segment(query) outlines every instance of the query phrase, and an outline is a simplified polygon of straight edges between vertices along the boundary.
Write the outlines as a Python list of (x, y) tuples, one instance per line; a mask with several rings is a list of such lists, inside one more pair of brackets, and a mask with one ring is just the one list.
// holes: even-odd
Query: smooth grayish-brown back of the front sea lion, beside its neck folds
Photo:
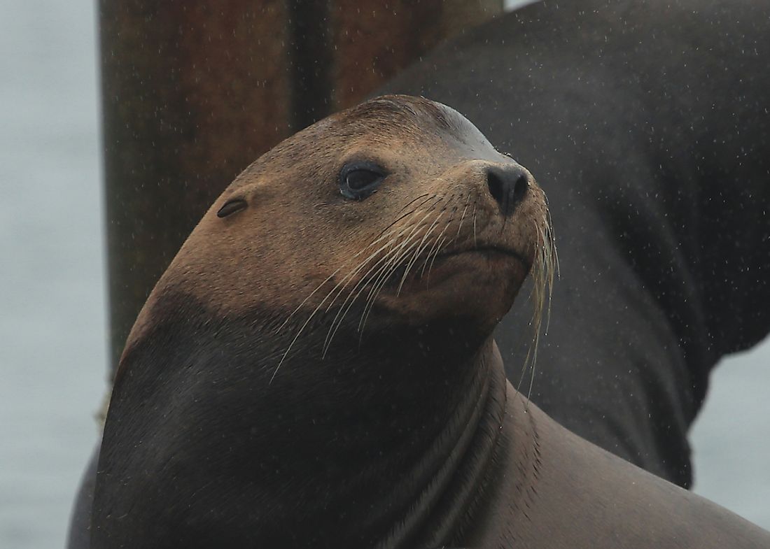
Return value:
[(467, 547), (770, 547), (770, 533), (563, 428), (507, 383), (487, 501)]

